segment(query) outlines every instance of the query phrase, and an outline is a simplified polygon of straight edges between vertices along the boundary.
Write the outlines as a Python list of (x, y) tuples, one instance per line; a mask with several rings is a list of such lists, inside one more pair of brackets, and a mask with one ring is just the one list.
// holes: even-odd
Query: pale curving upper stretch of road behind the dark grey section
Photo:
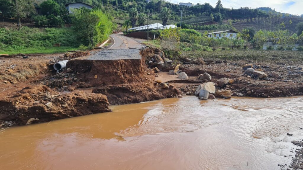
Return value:
[(143, 45), (140, 43), (140, 39), (135, 39), (135, 38), (129, 38), (123, 36), (123, 33), (118, 33), (118, 34), (112, 34), (110, 35), (113, 40), (114, 44), (109, 47), (108, 49), (141, 49), (144, 48)]

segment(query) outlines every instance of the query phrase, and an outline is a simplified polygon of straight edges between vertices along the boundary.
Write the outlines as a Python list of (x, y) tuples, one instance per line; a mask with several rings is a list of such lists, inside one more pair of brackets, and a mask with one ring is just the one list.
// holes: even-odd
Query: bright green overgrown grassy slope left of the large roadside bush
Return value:
[[(54, 44), (60, 44), (60, 47), (54, 47)], [(71, 28), (0, 28), (1, 54), (50, 54), (78, 50), (80, 45)]]

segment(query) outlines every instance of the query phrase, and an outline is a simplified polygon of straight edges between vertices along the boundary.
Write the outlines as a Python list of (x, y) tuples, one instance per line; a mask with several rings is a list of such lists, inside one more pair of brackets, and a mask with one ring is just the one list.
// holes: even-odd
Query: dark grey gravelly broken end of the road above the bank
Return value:
[(87, 60), (124, 60), (141, 58), (138, 49), (108, 49), (89, 56)]

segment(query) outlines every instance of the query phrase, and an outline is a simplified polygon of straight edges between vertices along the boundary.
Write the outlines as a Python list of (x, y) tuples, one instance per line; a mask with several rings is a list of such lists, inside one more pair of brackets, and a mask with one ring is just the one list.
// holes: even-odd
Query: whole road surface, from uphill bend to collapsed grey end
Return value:
[(125, 60), (141, 59), (139, 50), (144, 48), (140, 43), (144, 40), (124, 37), (123, 33), (112, 34), (114, 44), (106, 50), (87, 57), (88, 60)]

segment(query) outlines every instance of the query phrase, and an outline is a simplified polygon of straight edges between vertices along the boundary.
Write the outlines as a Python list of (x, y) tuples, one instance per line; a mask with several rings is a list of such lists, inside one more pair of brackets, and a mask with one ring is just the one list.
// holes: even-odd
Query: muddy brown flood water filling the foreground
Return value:
[(12, 127), (0, 169), (279, 169), (303, 138), (302, 99), (186, 96)]

